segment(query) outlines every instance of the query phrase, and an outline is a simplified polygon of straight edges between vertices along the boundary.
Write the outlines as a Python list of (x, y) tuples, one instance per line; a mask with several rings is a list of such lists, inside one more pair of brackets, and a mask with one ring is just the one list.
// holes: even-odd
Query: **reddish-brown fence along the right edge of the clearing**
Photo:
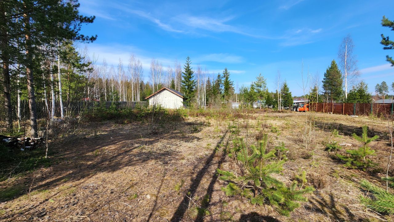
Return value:
[(310, 103), (310, 110), (333, 114), (393, 117), (394, 103)]

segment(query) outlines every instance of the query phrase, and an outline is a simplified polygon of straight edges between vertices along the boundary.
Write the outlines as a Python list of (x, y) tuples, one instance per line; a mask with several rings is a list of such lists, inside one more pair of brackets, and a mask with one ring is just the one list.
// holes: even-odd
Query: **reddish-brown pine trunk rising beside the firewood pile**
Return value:
[[(26, 5), (25, 5), (26, 8)], [(28, 93), (28, 102), (30, 109), (30, 133), (33, 137), (38, 137), (38, 127), (37, 127), (37, 106), (35, 103), (35, 94), (34, 94), (34, 78), (33, 78), (33, 69), (32, 69), (32, 61), (33, 56), (31, 49), (31, 39), (30, 39), (30, 17), (24, 13), (24, 34), (26, 40), (26, 78), (27, 78), (27, 93)]]

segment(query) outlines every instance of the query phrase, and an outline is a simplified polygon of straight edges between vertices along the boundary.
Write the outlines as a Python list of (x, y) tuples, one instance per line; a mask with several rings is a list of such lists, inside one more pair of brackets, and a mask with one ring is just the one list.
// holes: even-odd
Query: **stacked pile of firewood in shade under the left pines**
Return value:
[(33, 150), (35, 147), (45, 143), (42, 137), (31, 138), (31, 137), (11, 137), (0, 135), (0, 143), (7, 146), (18, 148), (22, 151)]

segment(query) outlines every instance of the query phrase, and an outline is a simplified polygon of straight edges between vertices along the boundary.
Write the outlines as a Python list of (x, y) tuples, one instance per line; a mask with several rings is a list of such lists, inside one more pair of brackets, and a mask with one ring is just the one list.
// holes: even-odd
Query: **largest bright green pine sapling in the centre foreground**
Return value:
[[(247, 198), (251, 204), (264, 205), (268, 203), (276, 211), (288, 216), (290, 212), (299, 207), (299, 201), (307, 201), (304, 194), (312, 192), (312, 187), (297, 188), (297, 182), (290, 187), (273, 177), (273, 173), (281, 173), (285, 160), (273, 160), (276, 149), (266, 152), (268, 136), (264, 135), (258, 146), (245, 145), (241, 140), (236, 143), (240, 146), (236, 151), (236, 158), (243, 164), (243, 175), (217, 169), (221, 176), (219, 179), (229, 184), (222, 190), (227, 196), (240, 195)], [(282, 147), (284, 148), (284, 147)], [(247, 186), (247, 187), (246, 187)]]

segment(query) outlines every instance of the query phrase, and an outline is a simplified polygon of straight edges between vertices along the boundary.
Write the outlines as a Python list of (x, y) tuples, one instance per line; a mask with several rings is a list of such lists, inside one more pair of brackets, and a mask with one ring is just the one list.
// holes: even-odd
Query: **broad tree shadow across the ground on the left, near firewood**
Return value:
[[(194, 123), (201, 125), (197, 121)], [(59, 151), (60, 155), (53, 158), (55, 163), (52, 164), (50, 170), (44, 170), (42, 173), (34, 175), (34, 183), (30, 191), (49, 190), (66, 181), (67, 183), (72, 182), (73, 187), (78, 187), (99, 172), (115, 172), (124, 167), (137, 166), (151, 160), (158, 160), (162, 164), (174, 161), (174, 157), (178, 153), (172, 147), (164, 146), (166, 144), (157, 149), (145, 149), (144, 147), (146, 144), (154, 146), (163, 138), (173, 136), (175, 131), (190, 131), (191, 126), (193, 124), (185, 124), (184, 122), (170, 124), (162, 127), (164, 130), (159, 131), (158, 134), (150, 134), (149, 130), (141, 132), (141, 129), (147, 128), (147, 125), (133, 124), (119, 129), (122, 132), (114, 132), (116, 130), (109, 129), (97, 137), (78, 137), (69, 141), (65, 138), (63, 141), (66, 142), (59, 143), (65, 151)], [(182, 134), (182, 136), (186, 137), (182, 141), (194, 141), (198, 138), (188, 134)], [(25, 187), (28, 190), (31, 183), (32, 177), (25, 177), (13, 186)], [(26, 194), (26, 189), (23, 190), (24, 192), (15, 194), (13, 198)], [(59, 192), (51, 196), (55, 196)], [(48, 198), (44, 201), (47, 200)], [(43, 202), (32, 207), (37, 207), (41, 203)], [(19, 214), (28, 212), (32, 207), (20, 211)], [(0, 220), (11, 216), (13, 215), (0, 216)]]

